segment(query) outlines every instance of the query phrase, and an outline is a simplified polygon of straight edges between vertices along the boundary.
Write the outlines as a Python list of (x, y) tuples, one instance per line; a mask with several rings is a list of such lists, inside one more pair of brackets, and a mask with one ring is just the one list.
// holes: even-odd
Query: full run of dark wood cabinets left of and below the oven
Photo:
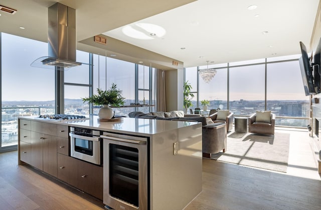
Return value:
[(68, 156), (68, 126), (19, 121), (19, 160), (103, 199), (103, 167)]

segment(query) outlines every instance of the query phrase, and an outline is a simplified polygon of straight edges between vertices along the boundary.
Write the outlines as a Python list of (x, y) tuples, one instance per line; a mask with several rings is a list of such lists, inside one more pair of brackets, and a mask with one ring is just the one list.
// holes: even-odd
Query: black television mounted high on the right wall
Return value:
[[(316, 63), (311, 63), (311, 57), (308, 56), (305, 45), (300, 42), (301, 54), (302, 56), (299, 58), (299, 64), (301, 69), (302, 81), (305, 95), (314, 95), (320, 93), (320, 73), (319, 66)], [(317, 56), (317, 53), (314, 57)], [(320, 54), (318, 54), (320, 56)], [(317, 60), (313, 59), (314, 61)], [(320, 60), (320, 59), (318, 59)], [(316, 67), (315, 67), (315, 66)]]

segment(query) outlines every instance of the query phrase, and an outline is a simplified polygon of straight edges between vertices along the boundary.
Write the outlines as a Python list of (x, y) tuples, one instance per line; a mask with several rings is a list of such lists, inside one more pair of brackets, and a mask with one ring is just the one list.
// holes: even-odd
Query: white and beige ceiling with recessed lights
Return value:
[[(184, 67), (299, 54), (299, 41), (310, 44), (319, 4), (319, 0), (2, 0), (0, 5), (18, 12), (0, 11), (0, 31), (47, 42), (48, 7), (56, 2), (76, 9), (77, 49), (97, 53), (99, 47), (81, 42), (104, 34), (180, 61)], [(248, 10), (250, 5), (257, 8)], [(124, 35), (122, 27), (135, 22), (156, 24), (166, 34), (151, 40)]]

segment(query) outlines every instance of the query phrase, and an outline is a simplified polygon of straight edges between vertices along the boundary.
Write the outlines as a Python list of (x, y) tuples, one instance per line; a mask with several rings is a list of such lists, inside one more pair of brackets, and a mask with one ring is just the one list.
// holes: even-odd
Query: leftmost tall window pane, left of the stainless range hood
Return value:
[[(2, 137), (0, 150), (17, 148), (18, 117), (54, 114), (55, 71), (31, 67), (48, 45), (1, 33)], [(37, 50), (35, 50), (37, 49)]]

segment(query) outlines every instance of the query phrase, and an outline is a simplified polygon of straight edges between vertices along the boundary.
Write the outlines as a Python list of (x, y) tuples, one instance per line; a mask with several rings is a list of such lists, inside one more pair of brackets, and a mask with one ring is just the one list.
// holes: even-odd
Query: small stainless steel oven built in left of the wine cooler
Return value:
[(70, 127), (70, 156), (102, 165), (100, 131)]

